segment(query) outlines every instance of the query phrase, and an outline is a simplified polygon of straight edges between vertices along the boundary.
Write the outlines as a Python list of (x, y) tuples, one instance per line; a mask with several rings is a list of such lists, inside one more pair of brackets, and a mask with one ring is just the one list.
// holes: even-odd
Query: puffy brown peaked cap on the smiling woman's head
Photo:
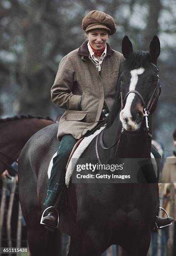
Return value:
[(110, 15), (98, 10), (93, 10), (87, 13), (82, 20), (82, 29), (84, 31), (88, 32), (95, 28), (107, 29), (110, 35), (116, 32), (116, 24), (114, 19)]

